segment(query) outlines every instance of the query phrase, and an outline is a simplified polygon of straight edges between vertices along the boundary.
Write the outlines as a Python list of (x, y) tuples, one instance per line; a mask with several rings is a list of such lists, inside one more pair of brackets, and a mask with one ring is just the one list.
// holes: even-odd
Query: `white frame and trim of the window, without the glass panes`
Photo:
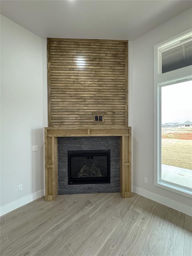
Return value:
[[(161, 58), (159, 58), (159, 52), (165, 49), (165, 44), (169, 43), (178, 45), (178, 38), (184, 37), (185, 42), (188, 40), (192, 29), (184, 31), (183, 33), (176, 35), (172, 38), (165, 40), (154, 46), (154, 185), (173, 191), (192, 198), (192, 191), (179, 185), (176, 186), (171, 182), (160, 180), (161, 175), (161, 102), (160, 102), (160, 89), (162, 86), (168, 84), (179, 83), (192, 80), (192, 66), (187, 66), (177, 70), (169, 71), (166, 73), (161, 72)], [(167, 45), (166, 45), (167, 47)], [(168, 48), (170, 48), (168, 46)]]

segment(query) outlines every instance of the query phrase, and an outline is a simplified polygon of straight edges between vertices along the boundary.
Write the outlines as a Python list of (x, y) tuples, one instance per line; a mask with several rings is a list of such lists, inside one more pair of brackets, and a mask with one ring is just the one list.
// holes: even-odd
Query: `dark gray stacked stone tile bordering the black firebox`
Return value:
[[(111, 150), (111, 183), (68, 185), (68, 150)], [(120, 137), (59, 137), (58, 194), (120, 191)]]

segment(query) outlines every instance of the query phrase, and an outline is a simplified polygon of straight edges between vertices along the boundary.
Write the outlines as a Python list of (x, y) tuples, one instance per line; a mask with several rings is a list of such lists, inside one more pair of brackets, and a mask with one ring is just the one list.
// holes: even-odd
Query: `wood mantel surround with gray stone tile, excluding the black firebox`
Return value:
[[(68, 184), (68, 151), (73, 150), (110, 150), (110, 183)], [(131, 128), (45, 128), (45, 177), (46, 201), (57, 194), (121, 192), (131, 197)]]

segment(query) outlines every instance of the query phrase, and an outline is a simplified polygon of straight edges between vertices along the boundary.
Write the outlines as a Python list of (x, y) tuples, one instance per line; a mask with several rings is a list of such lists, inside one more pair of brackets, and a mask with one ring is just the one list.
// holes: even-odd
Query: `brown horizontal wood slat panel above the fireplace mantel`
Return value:
[(127, 125), (127, 41), (48, 38), (47, 49), (49, 127)]

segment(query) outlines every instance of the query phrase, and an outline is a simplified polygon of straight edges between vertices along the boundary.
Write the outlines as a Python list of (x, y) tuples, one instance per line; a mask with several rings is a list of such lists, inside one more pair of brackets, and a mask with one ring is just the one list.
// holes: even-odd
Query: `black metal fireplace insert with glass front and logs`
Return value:
[(68, 151), (68, 185), (110, 183), (110, 150)]

